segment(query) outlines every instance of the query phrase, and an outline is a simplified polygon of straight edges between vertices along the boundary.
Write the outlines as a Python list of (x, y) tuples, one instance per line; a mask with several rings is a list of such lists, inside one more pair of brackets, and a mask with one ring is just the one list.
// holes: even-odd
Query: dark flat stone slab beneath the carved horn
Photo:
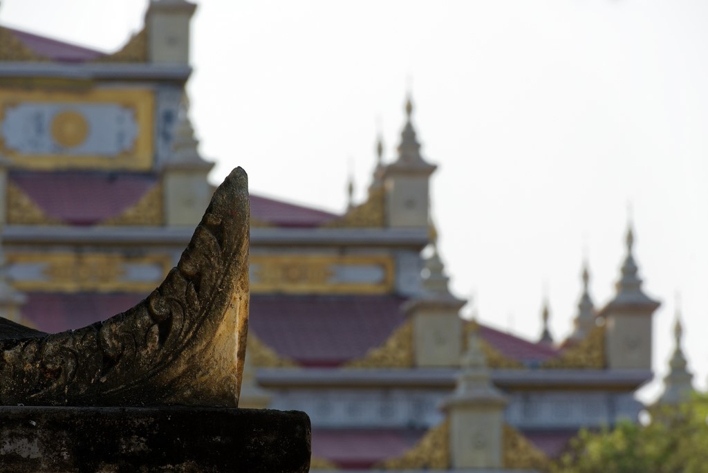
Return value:
[(299, 411), (0, 406), (2, 472), (307, 472)]

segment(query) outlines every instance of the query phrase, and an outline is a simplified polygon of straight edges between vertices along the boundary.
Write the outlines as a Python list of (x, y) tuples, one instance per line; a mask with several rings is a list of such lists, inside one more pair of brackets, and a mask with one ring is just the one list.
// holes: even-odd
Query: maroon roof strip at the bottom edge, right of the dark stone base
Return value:
[(344, 469), (367, 469), (376, 462), (398, 457), (425, 434), (418, 430), (347, 429), (312, 431), (312, 455)]

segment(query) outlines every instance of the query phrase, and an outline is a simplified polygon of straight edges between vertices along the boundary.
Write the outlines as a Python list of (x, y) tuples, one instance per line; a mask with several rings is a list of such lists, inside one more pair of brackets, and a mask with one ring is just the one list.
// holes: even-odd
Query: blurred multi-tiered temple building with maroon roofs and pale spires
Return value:
[[(78, 328), (131, 307), (178, 261), (212, 193), (185, 95), (194, 10), (151, 1), (110, 55), (0, 28), (4, 317)], [(636, 420), (659, 304), (632, 230), (612, 300), (593, 304), (583, 268), (569, 339), (462, 319), (429, 214), (436, 166), (410, 100), (406, 113), (397, 155), (379, 142), (367, 199), (341, 215), (251, 195), (241, 405), (306, 411), (313, 470), (532, 471), (582, 427)], [(690, 389), (677, 353), (666, 401)]]

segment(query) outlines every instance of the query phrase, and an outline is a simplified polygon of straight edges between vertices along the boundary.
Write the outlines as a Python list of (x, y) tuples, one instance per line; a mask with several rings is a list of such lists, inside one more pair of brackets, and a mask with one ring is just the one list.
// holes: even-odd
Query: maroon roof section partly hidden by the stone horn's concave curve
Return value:
[(35, 329), (54, 334), (108, 319), (130, 309), (144, 297), (142, 294), (130, 293), (28, 292), (22, 315)]

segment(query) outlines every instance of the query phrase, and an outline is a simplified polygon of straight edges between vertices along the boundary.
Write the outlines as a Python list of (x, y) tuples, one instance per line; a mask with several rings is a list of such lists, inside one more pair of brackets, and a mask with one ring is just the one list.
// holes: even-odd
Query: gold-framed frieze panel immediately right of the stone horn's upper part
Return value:
[[(341, 268), (378, 268), (379, 280), (337, 278)], [(251, 292), (288, 294), (385, 294), (393, 289), (390, 256), (252, 254)]]

